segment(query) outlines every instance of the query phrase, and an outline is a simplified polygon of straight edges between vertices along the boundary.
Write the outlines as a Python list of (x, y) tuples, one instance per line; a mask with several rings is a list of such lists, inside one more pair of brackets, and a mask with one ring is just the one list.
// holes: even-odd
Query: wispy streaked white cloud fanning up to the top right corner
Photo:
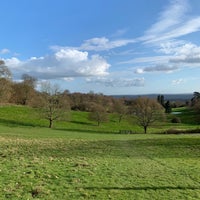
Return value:
[(160, 14), (158, 21), (140, 38), (145, 43), (155, 43), (175, 39), (200, 31), (200, 17), (188, 17), (187, 0), (172, 0)]

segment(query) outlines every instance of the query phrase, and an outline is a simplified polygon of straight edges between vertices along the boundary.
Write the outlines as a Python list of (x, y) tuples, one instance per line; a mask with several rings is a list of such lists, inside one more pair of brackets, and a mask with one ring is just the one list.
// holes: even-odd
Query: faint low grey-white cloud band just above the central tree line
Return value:
[(144, 78), (88, 78), (88, 83), (101, 84), (106, 87), (142, 87)]

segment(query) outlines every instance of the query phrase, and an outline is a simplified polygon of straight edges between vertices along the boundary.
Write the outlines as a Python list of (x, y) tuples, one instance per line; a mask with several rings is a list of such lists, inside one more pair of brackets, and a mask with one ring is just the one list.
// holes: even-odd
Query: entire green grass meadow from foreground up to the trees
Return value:
[(32, 108), (1, 107), (0, 199), (200, 199), (200, 135), (163, 134), (198, 128), (191, 113), (149, 134), (116, 116), (98, 127), (87, 114), (49, 129)]

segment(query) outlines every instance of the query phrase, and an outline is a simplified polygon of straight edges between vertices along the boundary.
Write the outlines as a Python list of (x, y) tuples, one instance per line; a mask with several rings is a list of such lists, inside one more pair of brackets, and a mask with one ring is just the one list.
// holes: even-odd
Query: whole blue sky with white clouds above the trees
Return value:
[(70, 92), (200, 91), (199, 0), (0, 0), (0, 59)]

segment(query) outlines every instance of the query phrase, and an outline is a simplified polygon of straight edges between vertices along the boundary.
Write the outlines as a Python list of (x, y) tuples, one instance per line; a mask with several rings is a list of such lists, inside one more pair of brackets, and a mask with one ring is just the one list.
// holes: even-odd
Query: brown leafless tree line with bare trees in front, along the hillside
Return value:
[[(36, 89), (37, 79), (23, 74), (21, 82), (14, 82), (12, 74), (0, 61), (0, 103), (31, 106), (38, 109), (41, 117), (49, 121), (49, 128), (56, 120), (66, 119), (70, 110), (89, 112), (89, 118), (100, 125), (108, 120), (108, 113), (116, 113), (118, 122), (125, 115), (134, 116), (144, 132), (164, 113), (170, 113), (172, 104), (159, 95), (157, 99), (138, 97), (136, 99), (114, 98), (103, 94), (70, 93), (61, 91), (59, 85), (43, 82), (41, 90)], [(198, 96), (198, 95), (197, 95)], [(200, 95), (199, 95), (200, 97)], [(200, 101), (193, 100), (197, 105)], [(199, 98), (200, 99), (200, 98)]]

